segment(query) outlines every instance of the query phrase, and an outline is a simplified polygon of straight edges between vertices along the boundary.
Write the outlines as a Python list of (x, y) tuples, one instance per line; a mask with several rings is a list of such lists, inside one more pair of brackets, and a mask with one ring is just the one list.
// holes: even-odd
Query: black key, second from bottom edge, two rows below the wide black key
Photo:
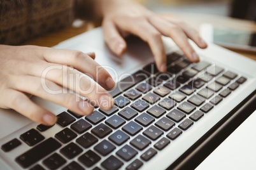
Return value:
[(99, 160), (101, 160), (101, 157), (95, 154), (92, 150), (88, 150), (87, 152), (85, 152), (85, 154), (78, 157), (78, 160), (82, 162), (82, 164), (84, 164), (85, 166), (91, 167), (99, 162)]

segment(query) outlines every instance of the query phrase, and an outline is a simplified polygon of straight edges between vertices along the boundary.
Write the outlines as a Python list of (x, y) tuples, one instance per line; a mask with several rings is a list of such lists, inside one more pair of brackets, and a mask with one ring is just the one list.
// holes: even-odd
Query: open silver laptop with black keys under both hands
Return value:
[(32, 96), (58, 116), (50, 127), (1, 109), (1, 169), (195, 168), (255, 110), (256, 62), (191, 42), (201, 62), (190, 63), (171, 39), (163, 41), (166, 74), (136, 37), (115, 56), (100, 27), (54, 46), (95, 51), (96, 62), (117, 82), (110, 91), (115, 107), (80, 116)]

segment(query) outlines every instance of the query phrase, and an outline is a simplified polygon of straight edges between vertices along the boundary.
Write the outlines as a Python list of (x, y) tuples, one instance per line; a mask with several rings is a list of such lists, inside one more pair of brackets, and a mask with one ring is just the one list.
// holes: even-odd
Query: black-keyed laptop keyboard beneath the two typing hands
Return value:
[[(118, 82), (110, 92), (115, 98), (111, 110), (95, 107), (88, 116), (67, 110), (54, 126), (39, 124), (1, 149), (28, 145), (15, 158), (22, 168), (139, 169), (246, 81), (210, 62), (190, 63), (178, 53), (167, 56), (167, 65), (167, 73), (150, 63)], [(55, 126), (61, 130), (45, 138), (43, 133)]]

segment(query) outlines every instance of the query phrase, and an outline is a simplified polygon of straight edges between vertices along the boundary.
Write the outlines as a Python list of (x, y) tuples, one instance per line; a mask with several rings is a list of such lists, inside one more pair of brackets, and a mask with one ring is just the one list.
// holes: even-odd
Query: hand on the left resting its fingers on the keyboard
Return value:
[(112, 89), (115, 82), (94, 58), (94, 53), (69, 49), (0, 45), (0, 108), (12, 108), (41, 124), (54, 124), (56, 116), (29, 99), (35, 95), (78, 114), (90, 114), (94, 107), (71, 90), (109, 110), (113, 98), (105, 89)]

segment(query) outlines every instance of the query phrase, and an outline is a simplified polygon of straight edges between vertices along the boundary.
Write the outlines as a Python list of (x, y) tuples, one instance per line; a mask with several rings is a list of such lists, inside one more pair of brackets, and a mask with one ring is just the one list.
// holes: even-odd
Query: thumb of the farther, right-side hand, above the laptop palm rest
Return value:
[[(113, 22), (110, 20), (104, 20), (103, 21), (103, 34), (104, 39), (110, 49), (118, 56), (122, 55), (127, 48), (127, 45), (123, 39), (123, 37), (120, 35), (120, 32), (118, 32), (117, 27)], [(123, 32), (125, 34), (125, 32)]]

